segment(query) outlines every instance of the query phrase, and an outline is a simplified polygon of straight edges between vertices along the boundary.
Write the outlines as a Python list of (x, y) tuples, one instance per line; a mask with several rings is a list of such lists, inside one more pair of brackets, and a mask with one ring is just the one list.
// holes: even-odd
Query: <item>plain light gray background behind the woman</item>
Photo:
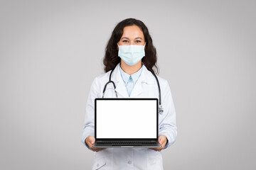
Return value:
[(90, 169), (80, 142), (114, 26), (149, 28), (178, 137), (165, 169), (255, 169), (255, 1), (0, 1), (0, 169)]

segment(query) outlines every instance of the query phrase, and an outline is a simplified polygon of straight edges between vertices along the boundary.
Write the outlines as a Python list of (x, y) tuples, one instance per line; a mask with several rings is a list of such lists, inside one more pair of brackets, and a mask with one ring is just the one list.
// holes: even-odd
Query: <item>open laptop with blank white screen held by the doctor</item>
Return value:
[(161, 147), (158, 98), (95, 98), (93, 147)]

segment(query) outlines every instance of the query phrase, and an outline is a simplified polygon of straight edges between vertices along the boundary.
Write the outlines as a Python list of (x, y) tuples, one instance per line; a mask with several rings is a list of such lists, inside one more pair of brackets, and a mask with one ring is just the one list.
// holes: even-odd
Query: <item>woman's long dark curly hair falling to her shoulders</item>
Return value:
[[(118, 57), (117, 42), (122, 38), (124, 27), (134, 25), (142, 29), (146, 42), (145, 57), (142, 58), (143, 64), (147, 69), (149, 69), (149, 71), (154, 72), (155, 74), (159, 73), (159, 69), (156, 66), (156, 48), (153, 45), (151, 36), (149, 35), (149, 30), (142, 21), (134, 18), (127, 18), (124, 21), (119, 22), (114, 28), (110, 40), (107, 42), (105, 57), (103, 59), (105, 72), (114, 69), (114, 67), (121, 62), (120, 57)], [(156, 71), (154, 71), (153, 68), (156, 69)]]

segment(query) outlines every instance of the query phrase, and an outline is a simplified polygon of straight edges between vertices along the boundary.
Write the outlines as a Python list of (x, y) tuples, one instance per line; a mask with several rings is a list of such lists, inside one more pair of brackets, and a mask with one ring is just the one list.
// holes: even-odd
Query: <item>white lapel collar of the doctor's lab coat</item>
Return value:
[[(120, 64), (120, 63), (119, 63)], [(114, 71), (112, 73), (112, 81), (114, 81), (114, 84), (116, 84), (116, 91), (117, 93), (121, 94), (124, 98), (129, 98), (129, 95), (127, 93), (127, 89), (124, 85), (124, 81), (122, 80), (120, 70), (119, 70), (119, 64), (114, 68)], [(142, 64), (142, 74), (137, 80), (137, 83), (134, 86), (134, 89), (132, 89), (132, 94), (130, 97), (137, 96), (142, 93), (142, 83), (146, 84), (155, 84), (156, 80), (154, 79), (154, 76), (149, 72), (148, 69)]]

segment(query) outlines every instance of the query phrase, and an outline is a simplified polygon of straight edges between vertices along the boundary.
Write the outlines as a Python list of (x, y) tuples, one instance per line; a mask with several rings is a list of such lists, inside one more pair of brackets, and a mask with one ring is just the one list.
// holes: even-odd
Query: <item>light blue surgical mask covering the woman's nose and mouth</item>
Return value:
[(137, 64), (145, 56), (145, 45), (118, 45), (118, 56), (130, 66)]

